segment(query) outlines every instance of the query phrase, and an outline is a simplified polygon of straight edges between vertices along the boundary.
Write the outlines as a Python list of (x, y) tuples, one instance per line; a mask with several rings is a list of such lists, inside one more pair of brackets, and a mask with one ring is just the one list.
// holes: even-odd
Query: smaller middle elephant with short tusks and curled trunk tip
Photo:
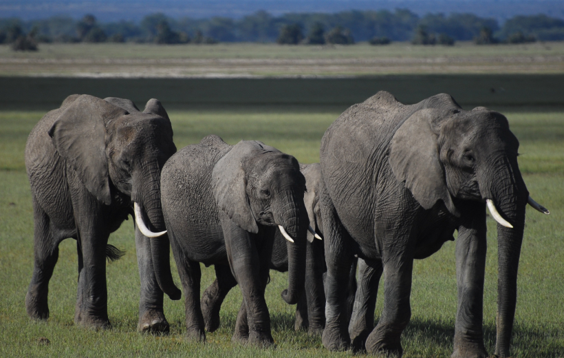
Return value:
[(305, 179), (296, 159), (260, 142), (231, 146), (207, 136), (166, 162), (161, 188), (166, 229), (186, 295), (188, 337), (206, 337), (199, 302), (203, 262), (215, 265), (218, 277), (232, 274), (241, 288), (234, 341), (273, 344), (264, 290), (278, 225), (294, 239), (288, 246), (290, 273), (283, 299), (296, 303), (305, 280), (309, 220), (303, 204)]

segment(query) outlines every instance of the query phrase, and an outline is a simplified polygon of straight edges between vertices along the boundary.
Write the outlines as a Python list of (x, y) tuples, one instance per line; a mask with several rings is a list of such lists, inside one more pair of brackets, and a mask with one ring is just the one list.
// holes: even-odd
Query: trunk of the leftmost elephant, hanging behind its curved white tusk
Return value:
[[(140, 202), (142, 213), (149, 219), (145, 221), (149, 230), (153, 232), (165, 231), (160, 201), (160, 172), (156, 171), (156, 173), (151, 174), (151, 176), (147, 176), (147, 178), (151, 178), (149, 180), (133, 181), (132, 199), (135, 202)], [(135, 184), (138, 184), (138, 186)], [(164, 234), (155, 238), (149, 238), (149, 240), (153, 269), (161, 290), (171, 299), (180, 299), (181, 291), (175, 286), (171, 273), (169, 236)]]

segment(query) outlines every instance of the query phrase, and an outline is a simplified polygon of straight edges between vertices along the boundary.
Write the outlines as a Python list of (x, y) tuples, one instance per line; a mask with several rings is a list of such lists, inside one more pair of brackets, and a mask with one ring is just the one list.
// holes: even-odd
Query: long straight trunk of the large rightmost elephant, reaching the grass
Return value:
[[(497, 279), (497, 340), (495, 355), (509, 357), (515, 307), (517, 304), (517, 271), (523, 230), (525, 206), (529, 193), (521, 177), (517, 158), (503, 158), (505, 165), (497, 167), (492, 180), (490, 198), (505, 220), (512, 225), (497, 224), (498, 279)], [(501, 169), (500, 169), (501, 168)]]

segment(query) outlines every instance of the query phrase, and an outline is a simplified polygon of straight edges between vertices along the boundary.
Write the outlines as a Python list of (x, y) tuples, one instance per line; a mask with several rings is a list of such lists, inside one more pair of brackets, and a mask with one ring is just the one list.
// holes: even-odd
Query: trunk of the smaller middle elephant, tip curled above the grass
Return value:
[[(288, 191), (274, 211), (274, 220), (281, 225), (294, 242), (286, 241), (288, 249), (288, 288), (281, 295), (288, 304), (296, 304), (305, 284), (306, 236), (310, 220), (303, 204), (303, 196)], [(279, 215), (276, 215), (279, 213)]]

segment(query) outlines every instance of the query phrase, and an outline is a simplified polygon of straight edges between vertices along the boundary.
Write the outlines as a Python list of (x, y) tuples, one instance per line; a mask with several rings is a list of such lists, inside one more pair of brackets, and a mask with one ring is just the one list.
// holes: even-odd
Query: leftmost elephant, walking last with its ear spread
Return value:
[[(107, 253), (120, 257), (107, 245), (109, 234), (133, 214), (133, 201), (149, 229), (164, 230), (160, 169), (175, 151), (169, 116), (155, 99), (140, 112), (122, 98), (76, 94), (41, 118), (25, 147), (34, 208), (34, 272), (25, 296), (30, 317), (49, 317), (48, 284), (58, 244), (74, 238), (74, 322), (91, 328), (109, 325), (105, 259)], [(166, 235), (149, 240), (135, 228), (135, 244), (142, 287), (139, 329), (169, 330), (163, 291), (180, 299), (171, 275), (169, 240)]]

